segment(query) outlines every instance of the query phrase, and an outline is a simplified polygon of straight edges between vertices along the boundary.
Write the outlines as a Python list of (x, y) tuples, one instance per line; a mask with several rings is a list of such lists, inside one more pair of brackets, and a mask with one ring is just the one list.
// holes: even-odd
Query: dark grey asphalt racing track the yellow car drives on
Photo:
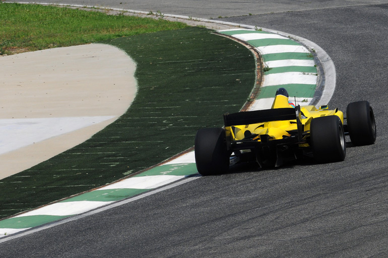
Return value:
[[(192, 3), (187, 1), (181, 10), (167, 8), (164, 12), (184, 15)], [(239, 172), (203, 177), (3, 242), (0, 254), (5, 257), (387, 257), (388, 4), (348, 1), (343, 2), (346, 7), (336, 7), (336, 1), (322, 1), (315, 9), (306, 10), (303, 2), (298, 2), (301, 11), (293, 11), (292, 3), (282, 1), (265, 7), (271, 7), (273, 13), (231, 17), (225, 12), (220, 16), (230, 17), (224, 21), (298, 35), (322, 47), (333, 59), (337, 72), (337, 87), (329, 105), (345, 110), (349, 102), (368, 100), (377, 122), (374, 145), (353, 147), (348, 143), (346, 160), (338, 163), (293, 163), (268, 170), (242, 166)], [(311, 6), (305, 3), (304, 6)], [(293, 12), (283, 12), (287, 11), (282, 10), (287, 4), (291, 4), (289, 9)], [(110, 6), (114, 5), (117, 4), (112, 1)], [(138, 5), (121, 8), (141, 10), (141, 4)], [(281, 12), (277, 11), (277, 5)], [(254, 9), (260, 9), (257, 6), (260, 5), (216, 1), (210, 9), (228, 7), (230, 12), (255, 14)], [(214, 12), (213, 17), (216, 15)]]

